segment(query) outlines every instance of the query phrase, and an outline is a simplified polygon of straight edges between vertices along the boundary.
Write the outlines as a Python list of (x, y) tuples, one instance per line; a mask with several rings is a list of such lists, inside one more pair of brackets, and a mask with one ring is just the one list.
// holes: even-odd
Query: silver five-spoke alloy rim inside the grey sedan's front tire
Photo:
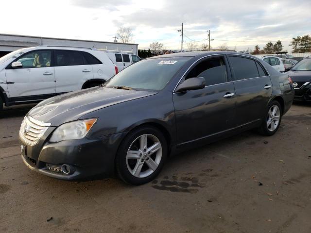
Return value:
[(153, 134), (142, 134), (127, 150), (127, 169), (133, 176), (144, 178), (154, 173), (161, 158), (162, 145), (159, 139)]

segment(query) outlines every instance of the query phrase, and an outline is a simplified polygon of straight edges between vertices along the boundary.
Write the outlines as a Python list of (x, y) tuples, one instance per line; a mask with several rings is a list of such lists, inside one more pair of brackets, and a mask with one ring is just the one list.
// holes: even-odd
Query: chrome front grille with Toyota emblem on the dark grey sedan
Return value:
[(26, 115), (20, 126), (19, 138), (26, 144), (34, 146), (50, 125)]

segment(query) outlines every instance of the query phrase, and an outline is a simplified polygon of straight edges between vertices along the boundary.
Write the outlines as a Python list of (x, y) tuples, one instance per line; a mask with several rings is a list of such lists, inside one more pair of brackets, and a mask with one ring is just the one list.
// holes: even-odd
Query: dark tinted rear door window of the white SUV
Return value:
[(55, 66), (81, 66), (85, 65), (84, 57), (79, 51), (55, 50)]

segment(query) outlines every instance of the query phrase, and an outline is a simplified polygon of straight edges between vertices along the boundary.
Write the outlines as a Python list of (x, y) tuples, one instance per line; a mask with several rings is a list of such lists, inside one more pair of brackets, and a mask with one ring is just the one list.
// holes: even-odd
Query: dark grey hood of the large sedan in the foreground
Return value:
[(32, 108), (28, 114), (39, 121), (51, 123), (51, 126), (59, 126), (98, 109), (156, 93), (99, 86), (44, 100)]

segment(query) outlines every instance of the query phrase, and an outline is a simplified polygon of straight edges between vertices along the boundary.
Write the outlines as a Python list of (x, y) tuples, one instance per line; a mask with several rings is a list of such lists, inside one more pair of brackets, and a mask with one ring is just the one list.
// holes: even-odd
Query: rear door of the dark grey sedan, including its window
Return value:
[(228, 56), (236, 93), (236, 126), (256, 122), (266, 111), (273, 86), (262, 65), (250, 58)]

